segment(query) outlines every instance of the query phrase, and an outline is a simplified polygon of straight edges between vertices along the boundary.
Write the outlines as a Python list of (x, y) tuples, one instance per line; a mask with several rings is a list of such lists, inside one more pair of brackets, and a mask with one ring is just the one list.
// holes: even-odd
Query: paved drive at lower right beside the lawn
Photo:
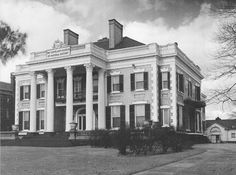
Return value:
[(236, 144), (197, 145), (206, 152), (135, 175), (236, 175)]

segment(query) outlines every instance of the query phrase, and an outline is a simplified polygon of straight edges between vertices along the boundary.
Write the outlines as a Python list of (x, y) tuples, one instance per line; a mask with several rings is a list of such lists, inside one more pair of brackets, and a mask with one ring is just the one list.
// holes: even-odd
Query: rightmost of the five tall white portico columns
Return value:
[(98, 71), (98, 129), (105, 129), (105, 77), (104, 69)]

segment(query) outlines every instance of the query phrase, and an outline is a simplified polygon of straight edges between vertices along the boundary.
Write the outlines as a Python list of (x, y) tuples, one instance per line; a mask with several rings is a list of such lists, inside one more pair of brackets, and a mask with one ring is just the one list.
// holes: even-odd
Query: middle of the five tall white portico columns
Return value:
[(73, 121), (73, 68), (66, 69), (66, 131), (70, 131), (70, 123)]

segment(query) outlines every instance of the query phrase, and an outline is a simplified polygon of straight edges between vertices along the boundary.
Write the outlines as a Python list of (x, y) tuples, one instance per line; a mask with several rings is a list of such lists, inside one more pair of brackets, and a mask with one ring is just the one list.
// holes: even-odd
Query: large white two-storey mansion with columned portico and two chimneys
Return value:
[(204, 107), (194, 105), (202, 100), (200, 68), (177, 43), (123, 37), (115, 19), (109, 38), (97, 42), (79, 44), (78, 34), (64, 30), (64, 43), (32, 53), (14, 75), (22, 132), (68, 132), (71, 122), (77, 130), (134, 128), (145, 121), (202, 132)]

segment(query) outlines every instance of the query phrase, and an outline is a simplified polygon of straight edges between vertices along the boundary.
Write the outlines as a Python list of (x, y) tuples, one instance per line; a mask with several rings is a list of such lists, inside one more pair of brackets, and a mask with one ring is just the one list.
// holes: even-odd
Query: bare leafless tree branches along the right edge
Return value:
[(209, 94), (208, 102), (236, 102), (236, 2), (232, 0), (219, 1), (212, 7), (212, 14), (221, 21), (216, 41), (219, 49), (215, 54), (213, 79), (222, 84), (230, 82), (224, 88), (214, 88)]

